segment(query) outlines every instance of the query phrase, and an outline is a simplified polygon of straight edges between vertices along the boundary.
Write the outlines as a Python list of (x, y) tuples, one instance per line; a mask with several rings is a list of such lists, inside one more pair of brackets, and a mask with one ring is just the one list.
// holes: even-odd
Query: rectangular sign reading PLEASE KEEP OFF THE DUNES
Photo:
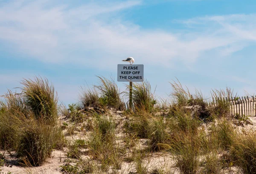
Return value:
[(143, 82), (144, 65), (118, 64), (117, 81)]

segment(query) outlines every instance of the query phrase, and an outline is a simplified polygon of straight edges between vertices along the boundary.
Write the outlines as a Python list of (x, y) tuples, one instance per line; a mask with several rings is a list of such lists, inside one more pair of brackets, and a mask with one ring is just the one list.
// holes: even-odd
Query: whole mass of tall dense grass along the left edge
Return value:
[(0, 148), (15, 150), (26, 164), (37, 166), (65, 143), (57, 122), (57, 98), (47, 79), (21, 84), (21, 94), (9, 90), (0, 103)]

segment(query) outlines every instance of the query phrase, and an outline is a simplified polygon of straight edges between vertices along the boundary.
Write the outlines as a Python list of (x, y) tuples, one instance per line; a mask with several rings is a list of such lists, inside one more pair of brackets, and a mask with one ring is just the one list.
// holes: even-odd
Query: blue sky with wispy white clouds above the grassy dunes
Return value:
[[(256, 93), (255, 0), (0, 0), (0, 95), (46, 77), (60, 102), (116, 79), (133, 57), (157, 99), (189, 90)], [(124, 82), (116, 82), (120, 91)]]

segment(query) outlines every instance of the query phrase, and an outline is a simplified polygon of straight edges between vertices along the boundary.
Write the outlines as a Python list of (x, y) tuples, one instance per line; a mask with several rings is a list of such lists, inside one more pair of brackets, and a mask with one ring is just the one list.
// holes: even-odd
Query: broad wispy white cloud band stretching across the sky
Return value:
[(195, 30), (175, 33), (145, 30), (119, 17), (122, 10), (142, 1), (91, 1), (79, 7), (61, 4), (51, 8), (47, 7), (49, 0), (19, 2), (0, 7), (0, 39), (49, 63), (106, 67), (111, 61), (134, 56), (141, 62), (171, 67), (174, 61), (195, 62), (214, 49), (227, 56), (256, 40), (255, 14), (184, 20)]

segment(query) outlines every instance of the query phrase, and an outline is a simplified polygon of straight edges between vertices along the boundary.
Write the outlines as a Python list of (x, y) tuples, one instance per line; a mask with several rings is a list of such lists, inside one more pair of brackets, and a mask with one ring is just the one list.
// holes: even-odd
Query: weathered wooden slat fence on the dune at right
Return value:
[(256, 96), (245, 97), (221, 97), (213, 99), (208, 102), (209, 106), (216, 106), (217, 104), (227, 103), (230, 107), (232, 115), (239, 114), (240, 116), (256, 116)]

